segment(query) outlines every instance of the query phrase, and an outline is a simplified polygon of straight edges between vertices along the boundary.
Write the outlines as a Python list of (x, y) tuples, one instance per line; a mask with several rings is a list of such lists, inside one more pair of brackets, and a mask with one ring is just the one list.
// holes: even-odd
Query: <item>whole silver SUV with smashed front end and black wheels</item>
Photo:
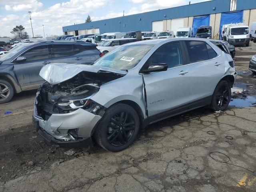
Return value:
[(236, 79), (234, 61), (207, 39), (141, 41), (92, 65), (48, 64), (38, 89), (34, 127), (61, 147), (127, 148), (140, 128), (210, 105), (225, 110)]

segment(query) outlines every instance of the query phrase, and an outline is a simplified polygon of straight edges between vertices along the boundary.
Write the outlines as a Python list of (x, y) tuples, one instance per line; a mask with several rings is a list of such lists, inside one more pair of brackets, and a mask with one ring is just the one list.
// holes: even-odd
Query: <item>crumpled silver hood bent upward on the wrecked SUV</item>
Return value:
[(100, 71), (112, 72), (116, 74), (126, 75), (126, 71), (116, 70), (108, 67), (100, 67), (84, 64), (65, 64), (54, 63), (47, 64), (41, 70), (39, 75), (50, 84), (58, 84), (64, 82), (82, 71), (98, 73)]

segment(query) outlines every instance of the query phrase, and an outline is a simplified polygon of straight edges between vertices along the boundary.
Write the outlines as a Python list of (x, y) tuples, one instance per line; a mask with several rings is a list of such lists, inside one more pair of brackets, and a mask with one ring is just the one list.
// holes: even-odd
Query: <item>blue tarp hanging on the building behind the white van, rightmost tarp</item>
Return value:
[(244, 11), (236, 11), (236, 12), (226, 12), (221, 14), (220, 18), (220, 39), (221, 39), (221, 30), (222, 26), (225, 24), (231, 23), (242, 23), (243, 22), (243, 13)]

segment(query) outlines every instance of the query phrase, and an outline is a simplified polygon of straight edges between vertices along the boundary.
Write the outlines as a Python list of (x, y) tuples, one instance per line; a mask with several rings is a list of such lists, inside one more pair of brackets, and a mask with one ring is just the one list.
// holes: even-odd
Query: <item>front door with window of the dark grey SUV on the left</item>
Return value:
[(14, 71), (23, 90), (44, 82), (39, 72), (42, 66), (51, 63), (48, 45), (30, 48), (20, 56), (26, 57), (26, 61), (15, 62)]

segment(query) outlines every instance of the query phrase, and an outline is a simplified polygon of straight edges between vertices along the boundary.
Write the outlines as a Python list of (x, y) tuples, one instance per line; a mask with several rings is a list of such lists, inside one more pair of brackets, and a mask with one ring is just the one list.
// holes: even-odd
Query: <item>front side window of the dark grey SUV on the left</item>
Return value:
[(26, 61), (36, 61), (48, 59), (48, 46), (38, 46), (30, 49), (28, 52), (24, 53), (22, 57), (26, 57)]

